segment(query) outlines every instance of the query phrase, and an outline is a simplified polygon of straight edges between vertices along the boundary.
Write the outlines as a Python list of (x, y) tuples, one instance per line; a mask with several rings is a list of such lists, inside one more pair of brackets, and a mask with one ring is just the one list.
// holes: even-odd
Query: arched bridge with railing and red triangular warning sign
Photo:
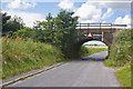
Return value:
[[(84, 42), (98, 40), (104, 42), (109, 47), (109, 53), (114, 39), (114, 33), (125, 29), (126, 24), (113, 23), (80, 23), (76, 26), (79, 30), (78, 46), (81, 47)], [(91, 34), (91, 36), (90, 36)], [(90, 36), (90, 37), (89, 37)]]

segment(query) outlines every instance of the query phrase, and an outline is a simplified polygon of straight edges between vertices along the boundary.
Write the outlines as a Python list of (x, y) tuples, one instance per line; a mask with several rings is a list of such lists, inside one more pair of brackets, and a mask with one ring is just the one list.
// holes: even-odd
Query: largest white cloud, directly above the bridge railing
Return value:
[[(103, 13), (102, 9), (108, 10)], [(131, 11), (131, 2), (86, 1), (74, 10), (73, 17), (78, 16), (80, 22), (101, 22), (111, 18), (116, 10)]]

